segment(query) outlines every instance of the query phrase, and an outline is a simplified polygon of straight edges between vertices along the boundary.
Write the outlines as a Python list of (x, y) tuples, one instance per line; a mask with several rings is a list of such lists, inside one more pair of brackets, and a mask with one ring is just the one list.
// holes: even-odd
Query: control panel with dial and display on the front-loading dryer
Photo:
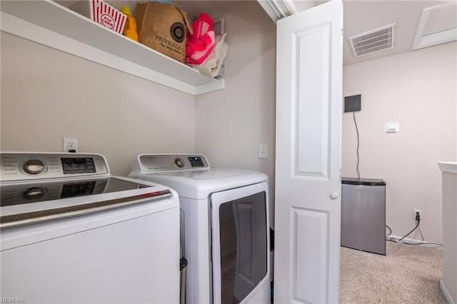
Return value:
[(146, 172), (208, 169), (202, 154), (143, 154), (139, 156), (141, 170)]

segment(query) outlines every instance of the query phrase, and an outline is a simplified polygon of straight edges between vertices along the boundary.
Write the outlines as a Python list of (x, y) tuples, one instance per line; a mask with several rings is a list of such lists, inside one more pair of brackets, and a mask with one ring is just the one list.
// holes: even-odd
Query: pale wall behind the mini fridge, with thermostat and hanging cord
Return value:
[[(424, 238), (442, 242), (437, 162), (457, 159), (456, 66), (453, 42), (343, 68), (343, 96), (361, 94), (361, 178), (386, 181), (393, 235), (413, 229), (413, 209), (422, 209)], [(400, 131), (384, 133), (388, 122), (400, 123)], [(343, 113), (343, 176), (356, 177), (356, 145), (352, 113)]]

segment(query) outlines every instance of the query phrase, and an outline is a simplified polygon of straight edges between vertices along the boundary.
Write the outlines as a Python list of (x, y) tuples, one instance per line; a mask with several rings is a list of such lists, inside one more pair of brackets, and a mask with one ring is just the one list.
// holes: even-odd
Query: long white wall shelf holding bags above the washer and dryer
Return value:
[(194, 96), (224, 88), (224, 79), (204, 76), (53, 1), (1, 1), (0, 9), (1, 31)]

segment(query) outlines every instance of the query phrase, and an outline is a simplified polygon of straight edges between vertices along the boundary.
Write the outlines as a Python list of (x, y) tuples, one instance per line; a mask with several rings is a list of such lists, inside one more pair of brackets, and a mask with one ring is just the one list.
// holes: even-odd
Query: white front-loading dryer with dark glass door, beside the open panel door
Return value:
[(179, 193), (186, 303), (270, 303), (268, 176), (198, 154), (143, 154), (131, 178)]

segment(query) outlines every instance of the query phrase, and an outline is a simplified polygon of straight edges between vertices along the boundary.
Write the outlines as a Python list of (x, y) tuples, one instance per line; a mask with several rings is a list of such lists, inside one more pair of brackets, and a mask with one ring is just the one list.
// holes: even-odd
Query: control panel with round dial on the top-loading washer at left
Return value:
[(109, 173), (104, 156), (86, 153), (0, 153), (1, 180), (21, 181)]

